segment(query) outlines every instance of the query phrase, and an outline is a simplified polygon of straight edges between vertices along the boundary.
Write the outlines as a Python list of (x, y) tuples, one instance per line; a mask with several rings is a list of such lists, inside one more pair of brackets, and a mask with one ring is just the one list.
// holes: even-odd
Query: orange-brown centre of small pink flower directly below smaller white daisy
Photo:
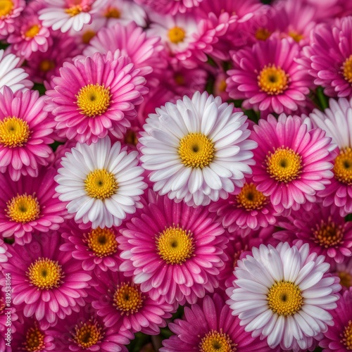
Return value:
[(89, 232), (87, 236), (87, 244), (94, 254), (100, 258), (111, 256), (118, 251), (118, 241), (116, 241), (113, 230), (98, 227)]

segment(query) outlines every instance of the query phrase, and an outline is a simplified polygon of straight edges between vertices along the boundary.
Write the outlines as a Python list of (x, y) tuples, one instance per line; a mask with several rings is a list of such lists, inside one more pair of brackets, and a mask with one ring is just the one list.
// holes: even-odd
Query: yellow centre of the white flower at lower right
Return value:
[(294, 315), (301, 309), (303, 298), (299, 287), (292, 282), (277, 282), (268, 292), (269, 308), (278, 315)]

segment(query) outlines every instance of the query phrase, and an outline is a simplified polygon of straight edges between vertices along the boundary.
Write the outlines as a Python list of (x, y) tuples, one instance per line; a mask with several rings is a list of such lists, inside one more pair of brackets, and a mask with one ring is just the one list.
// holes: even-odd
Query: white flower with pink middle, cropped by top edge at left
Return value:
[(82, 30), (91, 23), (92, 15), (99, 11), (107, 0), (44, 0), (46, 7), (39, 11), (39, 20), (45, 27), (65, 33), (71, 28)]

